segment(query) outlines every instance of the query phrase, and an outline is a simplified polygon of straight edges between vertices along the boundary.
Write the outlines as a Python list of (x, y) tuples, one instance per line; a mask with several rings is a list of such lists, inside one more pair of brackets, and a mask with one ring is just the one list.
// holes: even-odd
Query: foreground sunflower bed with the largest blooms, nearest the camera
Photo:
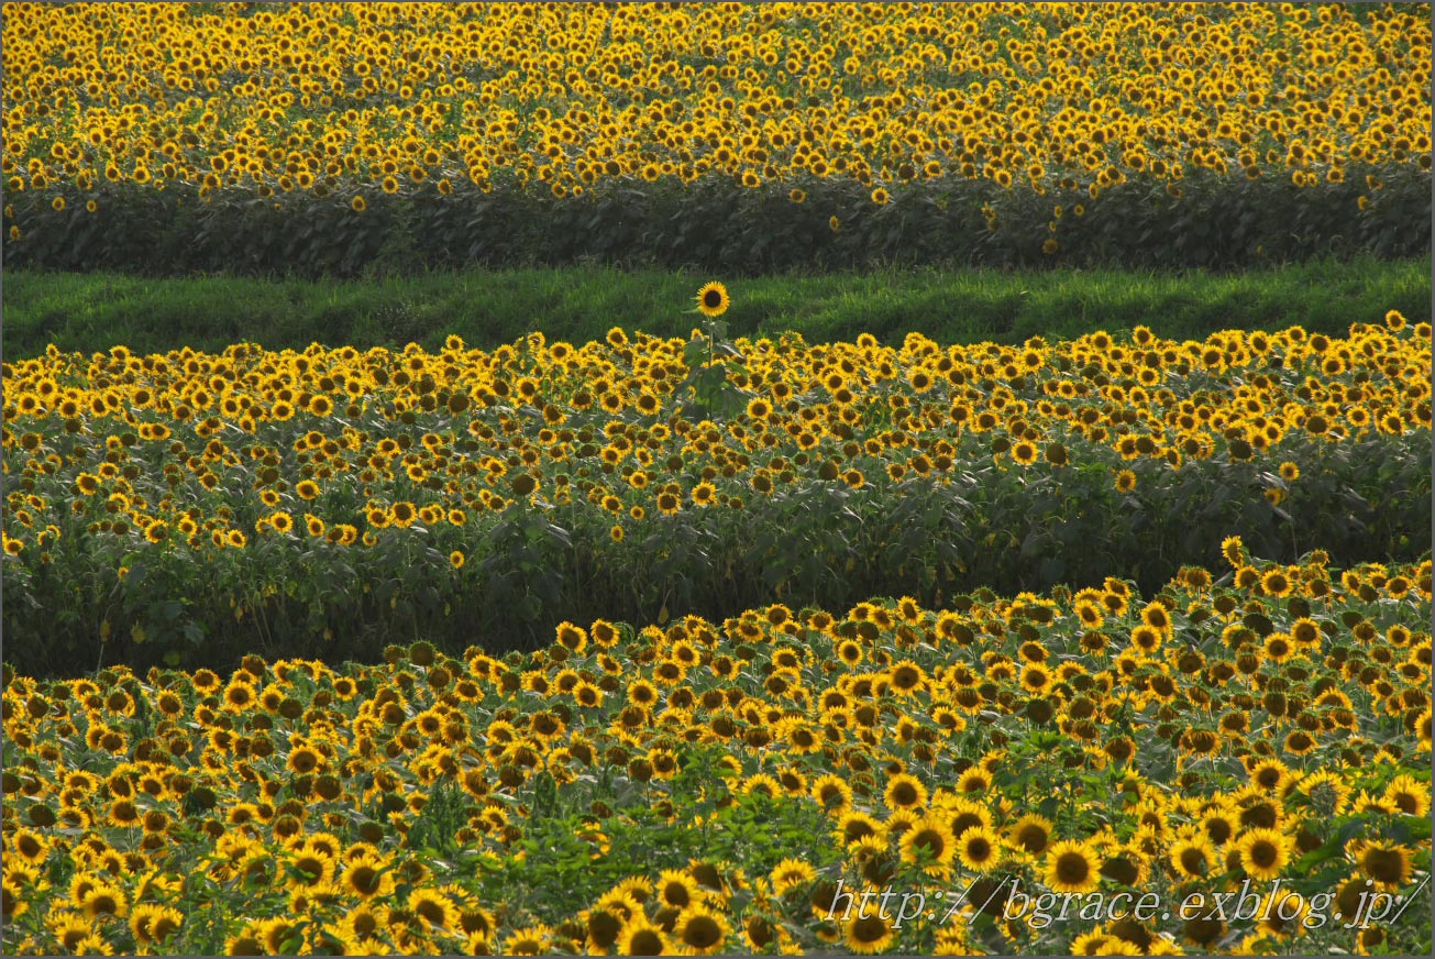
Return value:
[[(1188, 567), (1147, 597), (771, 604), (227, 678), (7, 670), (10, 942), (1409, 952), (1419, 910), (1360, 914), (1429, 873), (1429, 561), (1223, 551), (1236, 583)], [(885, 889), (974, 892), (845, 912)], [(1241, 889), (1266, 919), (1042, 923), (1012, 894)]]

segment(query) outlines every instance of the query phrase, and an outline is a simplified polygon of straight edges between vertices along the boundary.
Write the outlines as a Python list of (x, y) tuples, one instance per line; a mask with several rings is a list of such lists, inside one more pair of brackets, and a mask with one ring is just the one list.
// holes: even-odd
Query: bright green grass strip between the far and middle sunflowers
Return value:
[[(430, 273), (352, 281), (232, 277), (146, 279), (113, 273), (16, 271), (4, 277), (4, 353), (32, 357), (47, 343), (139, 352), (235, 342), (268, 349), (469, 346), (531, 330), (581, 343), (608, 327), (683, 336), (697, 287), (710, 279), (663, 270), (551, 267)], [(900, 343), (908, 332), (938, 342), (1020, 343), (1149, 326), (1172, 339), (1221, 329), (1345, 333), (1396, 309), (1429, 319), (1431, 260), (1304, 263), (1244, 273), (1124, 270), (880, 270), (766, 276), (729, 284), (733, 336), (795, 330), (809, 342), (870, 332)]]

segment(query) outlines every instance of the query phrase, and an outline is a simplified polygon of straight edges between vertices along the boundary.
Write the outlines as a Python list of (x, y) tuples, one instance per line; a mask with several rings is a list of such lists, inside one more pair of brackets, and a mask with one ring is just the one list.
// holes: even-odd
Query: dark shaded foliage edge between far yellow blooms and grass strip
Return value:
[[(1366, 177), (1382, 187), (1369, 190)], [(217, 194), (105, 184), (63, 210), (50, 194), (7, 192), (20, 238), (7, 264), (50, 270), (340, 276), (475, 264), (603, 263), (700, 268), (728, 277), (878, 264), (1247, 268), (1319, 257), (1418, 257), (1431, 243), (1431, 179), (1418, 164), (1355, 167), (1345, 181), (1296, 187), (1274, 172), (1198, 171), (1175, 184), (1142, 178), (1092, 198), (1083, 190), (941, 179), (897, 185), (880, 205), (844, 178), (749, 190), (598, 184), (583, 197), (462, 182), (449, 195), (373, 191)], [(794, 202), (789, 191), (805, 191)], [(1178, 195), (1175, 195), (1178, 194)], [(1366, 207), (1360, 210), (1360, 197)], [(86, 212), (86, 201), (98, 210)], [(1076, 207), (1083, 215), (1076, 215)], [(1063, 215), (1055, 218), (1055, 207)], [(831, 217), (839, 225), (831, 227)], [(1052, 228), (1055, 227), (1055, 228)], [(1055, 240), (1058, 248), (1046, 248)]]

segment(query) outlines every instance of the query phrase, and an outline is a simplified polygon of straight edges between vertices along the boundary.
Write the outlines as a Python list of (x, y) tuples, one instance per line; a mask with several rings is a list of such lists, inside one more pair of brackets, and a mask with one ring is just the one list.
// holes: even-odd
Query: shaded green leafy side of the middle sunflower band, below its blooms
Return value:
[[(1429, 553), (1429, 442), (1426, 431), (1296, 439), (1280, 454), (1300, 467), (1292, 484), (1269, 461), (1233, 457), (1248, 448), (1180, 469), (1141, 459), (1129, 464), (1129, 494), (1115, 490), (1106, 462), (997, 469), (977, 458), (959, 461), (946, 485), (914, 478), (894, 488), (885, 477), (860, 490), (779, 485), (745, 510), (654, 517), (621, 543), (596, 507), (511, 505), (462, 533), (382, 530), (366, 548), (251, 544), (201, 561), (187, 548), (154, 550), (131, 560), (123, 580), (90, 556), (113, 547), (76, 528), (52, 563), (7, 574), (6, 653), (36, 676), (100, 662), (221, 668), (244, 653), (375, 662), (395, 642), (497, 653), (545, 646), (564, 620), (720, 622), (775, 600), (838, 610), (908, 594), (941, 607), (980, 587), (1015, 594), (1106, 576), (1151, 593), (1185, 564), (1228, 569), (1220, 544), (1233, 534), (1276, 561), (1313, 548), (1342, 569), (1411, 561)], [(1280, 507), (1263, 495), (1269, 488), (1289, 490)], [(461, 570), (448, 563), (451, 548), (469, 557)], [(243, 619), (235, 604), (248, 607)]]

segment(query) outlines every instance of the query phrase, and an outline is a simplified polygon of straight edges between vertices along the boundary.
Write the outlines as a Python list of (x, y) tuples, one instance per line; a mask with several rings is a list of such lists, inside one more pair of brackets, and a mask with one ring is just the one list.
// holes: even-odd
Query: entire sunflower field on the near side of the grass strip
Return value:
[(1429, 874), (1429, 323), (893, 349), (728, 303), (7, 363), (20, 949), (1428, 940), (1370, 897)]

